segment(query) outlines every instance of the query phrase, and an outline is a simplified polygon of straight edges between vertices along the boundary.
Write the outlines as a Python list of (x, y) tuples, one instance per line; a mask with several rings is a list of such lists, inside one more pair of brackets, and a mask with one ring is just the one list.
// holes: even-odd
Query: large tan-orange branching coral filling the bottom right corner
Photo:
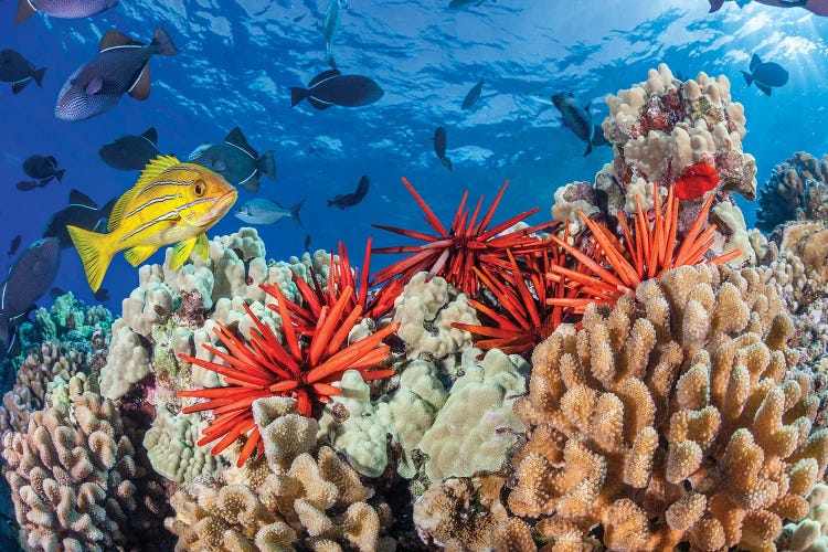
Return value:
[(587, 307), (532, 357), (511, 511), (561, 545), (601, 526), (611, 549), (773, 550), (828, 461), (793, 331), (751, 268), (671, 269)]

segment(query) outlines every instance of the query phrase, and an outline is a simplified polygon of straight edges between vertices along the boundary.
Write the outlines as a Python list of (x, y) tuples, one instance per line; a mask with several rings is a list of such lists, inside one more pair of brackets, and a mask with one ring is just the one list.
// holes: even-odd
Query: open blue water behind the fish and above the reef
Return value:
[[(606, 94), (644, 81), (660, 62), (687, 77), (704, 71), (731, 79), (734, 99), (745, 106), (744, 149), (756, 157), (760, 183), (796, 150), (828, 151), (828, 19), (756, 3), (740, 9), (735, 2), (709, 14), (707, 0), (484, 0), (464, 10), (447, 3), (351, 0), (335, 59), (344, 73), (374, 78), (385, 96), (363, 108), (317, 112), (307, 103), (291, 109), (288, 88), (327, 68), (320, 31), (327, 0), (124, 0), (88, 20), (36, 14), (17, 26), (15, 2), (2, 2), (0, 49), (49, 70), (42, 89), (31, 84), (13, 96), (10, 85), (0, 85), (0, 257), (14, 235), (22, 234), (23, 245), (40, 237), (72, 188), (102, 204), (127, 190), (137, 174), (110, 169), (97, 150), (150, 126), (158, 129), (161, 151), (179, 156), (202, 141), (221, 141), (236, 125), (259, 152), (275, 149), (278, 180), (263, 177), (259, 194), (284, 205), (307, 203), (304, 227), (291, 220), (259, 227), (274, 258), (300, 254), (308, 233), (311, 248), (342, 240), (361, 252), (371, 234), (379, 245), (399, 243), (373, 231), (372, 222), (423, 229), (402, 176), (444, 220), (463, 190), (491, 198), (505, 179), (511, 185), (496, 221), (534, 206), (541, 212), (533, 222), (548, 220), (558, 187), (592, 181), (612, 159), (609, 148), (582, 158), (583, 144), (561, 127), (550, 95), (571, 91), (592, 100), (599, 123)], [(149, 99), (125, 97), (86, 121), (54, 117), (63, 82), (95, 55), (104, 32), (117, 29), (148, 41), (159, 23), (181, 53), (152, 60)], [(754, 53), (790, 73), (772, 97), (745, 87), (740, 74)], [(481, 76), (480, 102), (461, 112), (466, 92)], [(438, 125), (448, 132), (452, 172), (432, 149)], [(315, 140), (341, 147), (319, 156), (308, 151)], [(67, 170), (63, 183), (18, 191), (14, 183), (25, 178), (22, 161), (32, 153), (56, 157)], [(353, 191), (364, 173), (372, 185), (361, 204), (326, 206), (326, 199)], [(242, 192), (240, 202), (250, 197)], [(754, 205), (742, 205), (751, 225)], [(240, 225), (229, 215), (210, 235)], [(151, 262), (162, 258), (158, 253)], [(55, 285), (92, 299), (74, 250), (63, 253)], [(120, 298), (136, 285), (136, 269), (118, 255), (104, 280), (109, 307), (119, 311)]]

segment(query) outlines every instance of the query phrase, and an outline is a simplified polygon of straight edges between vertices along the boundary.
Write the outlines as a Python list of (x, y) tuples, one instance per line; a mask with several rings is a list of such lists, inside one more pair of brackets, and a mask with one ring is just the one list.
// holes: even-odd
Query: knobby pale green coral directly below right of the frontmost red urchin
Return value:
[[(326, 406), (319, 436), (327, 436), (357, 471), (378, 477), (389, 463), (386, 435), (391, 435), (392, 442), (400, 445), (400, 475), (414, 477), (412, 453), (448, 396), (434, 365), (422, 360), (410, 363), (400, 376), (400, 389), (373, 402), (368, 384), (357, 371), (349, 370), (335, 385), (342, 389), (342, 394)], [(346, 412), (347, 418), (342, 420)]]

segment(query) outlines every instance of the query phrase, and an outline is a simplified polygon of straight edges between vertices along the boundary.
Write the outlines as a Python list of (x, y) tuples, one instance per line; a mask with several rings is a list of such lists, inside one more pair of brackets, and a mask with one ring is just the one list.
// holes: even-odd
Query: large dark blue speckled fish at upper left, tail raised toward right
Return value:
[(100, 39), (98, 55), (75, 70), (57, 96), (54, 114), (63, 120), (83, 120), (108, 112), (124, 94), (149, 97), (149, 60), (156, 54), (176, 55), (178, 49), (161, 25), (145, 45), (118, 31)]

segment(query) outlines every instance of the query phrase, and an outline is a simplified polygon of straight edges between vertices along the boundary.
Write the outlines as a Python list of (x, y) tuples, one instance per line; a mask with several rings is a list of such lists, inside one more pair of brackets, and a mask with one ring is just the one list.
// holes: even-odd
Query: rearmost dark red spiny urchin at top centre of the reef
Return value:
[(506, 263), (507, 251), (518, 253), (541, 251), (545, 247), (532, 235), (532, 232), (545, 227), (548, 224), (512, 229), (517, 223), (537, 213), (539, 209), (526, 211), (493, 226), (489, 225), (495, 216), (495, 210), (500, 203), (503, 192), (506, 192), (506, 187), (509, 184), (508, 181), (500, 188), (495, 201), (491, 202), (485, 213), (480, 212), (482, 197), (478, 200), (474, 212), (469, 213), (466, 208), (468, 191), (465, 192), (448, 230), (406, 179), (403, 179), (403, 184), (425, 213), (426, 222), (436, 232), (436, 235), (396, 226), (373, 224), (376, 229), (426, 242), (425, 245), (375, 247), (373, 250), (375, 253), (411, 254), (408, 257), (397, 261), (374, 274), (373, 278), (376, 283), (395, 277), (400, 277), (406, 283), (415, 274), (426, 272), (429, 279), (434, 276), (442, 276), (463, 293), (474, 295), (479, 286), (477, 274), (474, 270), (475, 267)]

